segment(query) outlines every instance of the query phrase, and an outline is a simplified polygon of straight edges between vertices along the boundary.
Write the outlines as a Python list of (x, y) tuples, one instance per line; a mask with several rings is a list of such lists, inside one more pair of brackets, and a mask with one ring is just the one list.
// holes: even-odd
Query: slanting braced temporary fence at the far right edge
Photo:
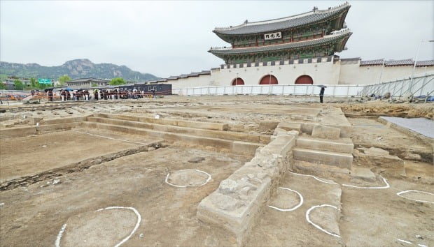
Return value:
[(386, 93), (391, 93), (391, 97), (400, 97), (405, 94), (414, 97), (433, 95), (434, 73), (415, 76), (413, 80), (409, 77), (393, 82), (366, 85), (365, 88), (360, 91), (359, 96), (369, 96), (372, 94), (384, 96)]

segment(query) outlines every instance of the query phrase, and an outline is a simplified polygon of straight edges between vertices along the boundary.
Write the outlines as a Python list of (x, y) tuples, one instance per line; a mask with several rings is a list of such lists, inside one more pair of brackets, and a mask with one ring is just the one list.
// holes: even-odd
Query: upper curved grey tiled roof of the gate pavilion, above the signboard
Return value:
[[(283, 17), (274, 20), (266, 20), (262, 22), (244, 22), (235, 27), (216, 27), (214, 29), (214, 33), (221, 33), (227, 35), (241, 35), (241, 34), (249, 34), (249, 33), (267, 33), (272, 31), (278, 31), (283, 29), (290, 29), (294, 27), (300, 27), (305, 24), (312, 24), (316, 22), (321, 22), (326, 20), (328, 17), (332, 17), (333, 15), (337, 15), (340, 13), (348, 12), (351, 6), (348, 2), (343, 3), (334, 8), (329, 8), (328, 10), (318, 10), (314, 8), (314, 10), (309, 11), (307, 13), (302, 13), (300, 15), (292, 15), (289, 17)], [(342, 27), (339, 27), (342, 28)]]

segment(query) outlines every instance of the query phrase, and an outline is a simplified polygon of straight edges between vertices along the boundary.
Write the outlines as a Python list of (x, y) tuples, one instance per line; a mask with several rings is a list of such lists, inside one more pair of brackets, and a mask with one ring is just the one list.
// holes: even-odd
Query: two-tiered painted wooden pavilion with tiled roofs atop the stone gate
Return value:
[(351, 36), (345, 17), (351, 6), (343, 3), (274, 20), (216, 27), (214, 33), (231, 47), (211, 47), (209, 52), (227, 64), (332, 56), (346, 50)]

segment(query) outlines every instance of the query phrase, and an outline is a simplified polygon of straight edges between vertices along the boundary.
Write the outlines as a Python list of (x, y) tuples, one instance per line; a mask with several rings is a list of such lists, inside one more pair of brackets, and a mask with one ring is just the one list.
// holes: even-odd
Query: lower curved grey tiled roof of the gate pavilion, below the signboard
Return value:
[(339, 39), (342, 38), (349, 38), (351, 36), (351, 31), (349, 29), (342, 29), (342, 31), (338, 31), (334, 34), (330, 34), (327, 36), (323, 36), (322, 38), (315, 38), (311, 40), (303, 40), (298, 42), (292, 42), (292, 43), (283, 43), (279, 45), (264, 45), (264, 46), (258, 46), (258, 47), (246, 47), (246, 48), (236, 48), (232, 49), (232, 47), (229, 48), (219, 48), (219, 47), (211, 47), (211, 49), (208, 52), (211, 52), (212, 54), (218, 55), (218, 54), (246, 54), (246, 53), (253, 53), (253, 52), (267, 52), (267, 51), (278, 51), (278, 50), (290, 50), (290, 49), (297, 49), (300, 47), (314, 47), (316, 45), (324, 45), (326, 43), (333, 43), (336, 42)]

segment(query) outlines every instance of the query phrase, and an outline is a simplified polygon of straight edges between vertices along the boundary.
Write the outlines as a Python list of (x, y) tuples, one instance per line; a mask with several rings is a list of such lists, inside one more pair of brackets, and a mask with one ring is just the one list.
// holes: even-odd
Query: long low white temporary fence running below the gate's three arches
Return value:
[[(327, 85), (324, 96), (351, 97), (357, 96), (364, 85)], [(173, 94), (183, 96), (203, 95), (318, 95), (318, 85), (237, 85), (219, 87), (193, 87), (172, 89)]]

